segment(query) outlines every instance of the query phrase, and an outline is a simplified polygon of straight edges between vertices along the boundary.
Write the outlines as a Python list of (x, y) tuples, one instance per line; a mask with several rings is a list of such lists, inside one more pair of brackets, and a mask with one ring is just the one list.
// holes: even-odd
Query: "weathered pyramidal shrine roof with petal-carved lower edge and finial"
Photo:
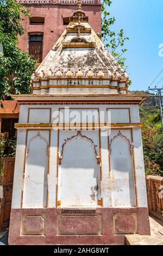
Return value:
[(107, 80), (110, 82), (104, 84), (112, 87), (128, 87), (128, 75), (90, 27), (80, 1), (64, 33), (32, 75), (32, 86), (36, 88), (39, 81), (66, 78)]

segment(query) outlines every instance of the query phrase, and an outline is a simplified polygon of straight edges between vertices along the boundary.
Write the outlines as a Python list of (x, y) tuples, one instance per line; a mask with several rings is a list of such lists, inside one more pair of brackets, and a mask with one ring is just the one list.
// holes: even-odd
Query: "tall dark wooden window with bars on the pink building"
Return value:
[(29, 34), (28, 53), (37, 63), (42, 62), (43, 34)]

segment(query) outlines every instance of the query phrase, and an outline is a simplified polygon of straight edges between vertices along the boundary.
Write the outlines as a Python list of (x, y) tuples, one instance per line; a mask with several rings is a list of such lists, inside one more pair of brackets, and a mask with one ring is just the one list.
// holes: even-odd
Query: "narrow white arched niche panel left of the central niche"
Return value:
[(28, 131), (23, 208), (47, 206), (49, 131)]

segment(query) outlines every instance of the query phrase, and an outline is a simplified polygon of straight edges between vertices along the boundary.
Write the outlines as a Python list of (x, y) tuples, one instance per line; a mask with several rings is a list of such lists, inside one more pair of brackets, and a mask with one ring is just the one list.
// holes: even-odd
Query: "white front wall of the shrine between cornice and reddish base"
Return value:
[[(123, 107), (89, 105), (86, 108), (73, 105), (70, 109), (68, 107), (70, 106), (67, 105), (64, 110), (57, 105), (49, 105), (48, 108), (22, 105), (19, 123), (39, 125), (42, 122), (55, 125), (58, 120), (63, 124), (69, 124), (68, 120), (72, 120), (72, 123), (80, 124), (83, 119), (83, 123), (90, 124), (93, 121), (98, 124), (99, 121), (101, 123), (114, 121), (112, 124), (118, 125), (122, 121), (127, 124), (140, 121), (137, 105)], [(77, 135), (77, 128), (71, 131), (60, 129), (58, 132), (57, 127), (53, 127), (51, 136), (47, 128), (39, 130), (37, 127), (37, 130), (28, 131), (19, 129), (20, 140), (21, 135), (24, 136), (26, 132), (27, 135), (24, 136), (23, 142), (17, 142), (17, 154), (22, 154), (23, 148), (23, 151), (26, 150), (26, 156), (24, 160), (20, 155), (16, 161), (16, 169), (24, 166), (24, 177), (21, 181), (20, 176), (23, 175), (21, 168), (20, 172), (15, 174), (20, 182), (14, 184), (13, 198), (16, 197), (17, 200), (12, 201), (12, 208), (20, 206), (21, 200), (23, 208), (44, 207), (47, 205), (45, 199), (47, 197), (51, 207), (56, 206), (56, 200), (61, 201), (61, 206), (97, 206), (101, 198), (105, 207), (134, 207), (136, 200), (138, 205), (146, 207), (146, 197), (141, 196), (145, 191), (143, 183), (145, 172), (143, 159), (140, 157), (142, 153), (140, 130), (140, 128), (115, 129), (114, 127), (112, 130), (99, 131), (95, 128), (92, 131), (90, 128), (90, 131), (85, 131), (83, 127), (82, 135), (86, 138), (78, 136), (67, 142), (61, 164), (57, 164), (57, 154), (58, 157), (61, 155), (62, 145), (67, 138)], [(93, 143), (88, 138), (92, 139)], [(97, 163), (95, 145), (97, 156), (101, 155), (100, 164)], [(57, 189), (54, 189), (55, 187)], [(39, 195), (40, 199), (38, 199)]]

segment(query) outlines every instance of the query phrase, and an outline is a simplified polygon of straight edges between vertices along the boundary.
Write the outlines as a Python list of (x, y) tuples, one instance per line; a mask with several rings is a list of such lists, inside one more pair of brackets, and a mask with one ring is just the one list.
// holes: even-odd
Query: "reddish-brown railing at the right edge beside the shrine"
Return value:
[(163, 220), (163, 177), (147, 176), (146, 185), (149, 213)]

